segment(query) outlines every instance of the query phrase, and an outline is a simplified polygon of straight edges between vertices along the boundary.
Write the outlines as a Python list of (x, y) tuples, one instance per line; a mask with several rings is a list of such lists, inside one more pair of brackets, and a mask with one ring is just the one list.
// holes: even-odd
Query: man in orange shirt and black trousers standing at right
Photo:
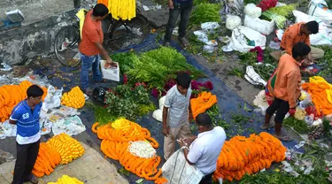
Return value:
[(297, 98), (301, 94), (301, 73), (302, 65), (311, 49), (304, 42), (297, 42), (291, 52), (286, 53), (280, 58), (278, 67), (274, 75), (268, 80), (267, 88), (274, 95), (274, 102), (266, 109), (265, 123), (262, 129), (273, 127), (270, 119), (276, 111), (274, 118), (275, 134), (282, 141), (291, 141), (289, 135), (282, 134), (282, 121), (287, 112), (294, 115), (297, 107)]

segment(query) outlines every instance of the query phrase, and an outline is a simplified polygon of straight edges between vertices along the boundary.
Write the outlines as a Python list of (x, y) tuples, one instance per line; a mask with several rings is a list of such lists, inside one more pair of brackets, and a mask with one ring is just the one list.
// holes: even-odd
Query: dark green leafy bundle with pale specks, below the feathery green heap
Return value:
[(108, 91), (105, 95), (106, 109), (115, 117), (125, 117), (135, 120), (155, 110), (150, 100), (150, 94), (143, 83), (136, 84), (135, 88), (129, 85), (120, 85)]

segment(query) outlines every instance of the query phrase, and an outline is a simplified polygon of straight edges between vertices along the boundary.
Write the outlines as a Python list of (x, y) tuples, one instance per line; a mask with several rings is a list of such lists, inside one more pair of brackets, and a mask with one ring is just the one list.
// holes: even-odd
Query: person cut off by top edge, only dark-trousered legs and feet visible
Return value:
[(182, 47), (187, 47), (189, 42), (184, 36), (186, 35), (188, 20), (193, 6), (193, 0), (168, 0), (168, 6), (169, 19), (166, 26), (164, 46), (170, 46), (176, 20), (178, 19), (179, 15), (181, 15), (179, 26), (179, 41)]

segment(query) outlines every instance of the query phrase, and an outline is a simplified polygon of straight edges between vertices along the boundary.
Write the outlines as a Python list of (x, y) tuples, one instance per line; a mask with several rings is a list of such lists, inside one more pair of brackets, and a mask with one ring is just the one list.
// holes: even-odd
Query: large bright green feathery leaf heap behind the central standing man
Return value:
[(192, 79), (204, 77), (194, 66), (187, 64), (186, 58), (174, 49), (161, 47), (158, 50), (144, 52), (141, 62), (128, 72), (128, 83), (144, 81), (149, 88), (162, 89), (167, 80), (174, 79), (176, 73), (188, 71)]

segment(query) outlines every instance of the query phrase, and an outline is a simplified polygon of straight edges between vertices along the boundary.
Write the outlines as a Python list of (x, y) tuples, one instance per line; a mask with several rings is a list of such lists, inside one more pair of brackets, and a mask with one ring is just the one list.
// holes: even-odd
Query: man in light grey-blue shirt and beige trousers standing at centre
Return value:
[(176, 85), (167, 91), (163, 109), (164, 157), (167, 160), (174, 153), (175, 139), (188, 137), (191, 134), (189, 121), (192, 119), (190, 106), (190, 76), (179, 73)]

